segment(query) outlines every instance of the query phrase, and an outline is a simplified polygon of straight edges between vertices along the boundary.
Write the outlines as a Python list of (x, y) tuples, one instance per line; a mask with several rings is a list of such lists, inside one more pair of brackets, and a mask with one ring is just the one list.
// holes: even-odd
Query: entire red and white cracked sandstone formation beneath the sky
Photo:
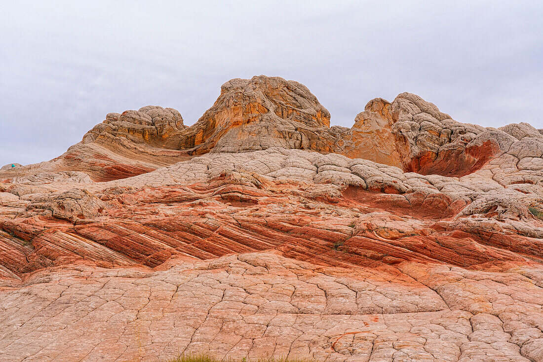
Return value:
[(234, 79), (0, 171), (0, 360), (543, 361), (543, 134)]

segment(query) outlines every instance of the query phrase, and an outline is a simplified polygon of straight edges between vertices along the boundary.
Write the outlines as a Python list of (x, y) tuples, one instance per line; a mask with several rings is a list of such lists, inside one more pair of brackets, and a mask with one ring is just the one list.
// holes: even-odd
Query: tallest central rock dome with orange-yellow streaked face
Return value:
[(331, 152), (335, 141), (330, 113), (304, 85), (261, 75), (223, 84), (180, 148), (191, 154), (270, 147)]

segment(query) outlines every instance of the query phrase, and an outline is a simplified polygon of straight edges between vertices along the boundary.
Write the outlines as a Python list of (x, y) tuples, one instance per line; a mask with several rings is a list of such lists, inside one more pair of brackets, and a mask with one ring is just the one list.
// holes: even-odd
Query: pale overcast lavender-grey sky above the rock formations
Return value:
[(109, 112), (191, 125), (260, 74), (305, 84), (332, 124), (407, 91), (460, 122), (543, 128), (541, 1), (0, 4), (0, 166), (59, 156)]

